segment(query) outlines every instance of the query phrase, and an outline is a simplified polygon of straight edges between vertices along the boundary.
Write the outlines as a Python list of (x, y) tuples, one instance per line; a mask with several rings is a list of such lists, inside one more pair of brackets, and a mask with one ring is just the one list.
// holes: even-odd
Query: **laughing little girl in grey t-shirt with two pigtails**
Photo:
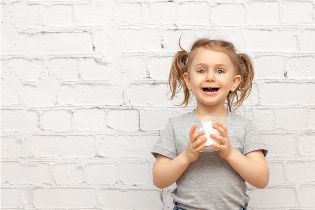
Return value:
[[(198, 39), (190, 52), (180, 48), (169, 75), (171, 99), (183, 88), (181, 105), (187, 106), (192, 92), (197, 106), (171, 118), (154, 146), (154, 184), (176, 182), (173, 210), (246, 210), (245, 182), (265, 188), (269, 181), (262, 139), (252, 121), (233, 112), (251, 91), (251, 59), (223, 40)], [(206, 137), (196, 131), (196, 119), (203, 116), (221, 119), (213, 125), (220, 135), (210, 134), (220, 142), (211, 145), (216, 152), (200, 152)]]

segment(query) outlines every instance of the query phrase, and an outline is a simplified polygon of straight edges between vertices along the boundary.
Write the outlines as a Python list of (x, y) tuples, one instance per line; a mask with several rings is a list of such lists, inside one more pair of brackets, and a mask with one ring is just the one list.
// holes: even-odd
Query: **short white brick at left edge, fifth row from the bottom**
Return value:
[(1, 80), (1, 104), (18, 105), (22, 92), (21, 81), (15, 77), (8, 77)]

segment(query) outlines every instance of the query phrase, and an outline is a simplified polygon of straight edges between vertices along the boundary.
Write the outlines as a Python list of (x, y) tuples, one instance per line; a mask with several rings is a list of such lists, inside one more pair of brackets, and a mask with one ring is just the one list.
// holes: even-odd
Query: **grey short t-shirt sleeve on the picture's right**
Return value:
[(265, 157), (268, 153), (265, 142), (258, 133), (254, 123), (249, 120), (246, 125), (243, 154), (245, 155), (255, 150), (262, 150)]

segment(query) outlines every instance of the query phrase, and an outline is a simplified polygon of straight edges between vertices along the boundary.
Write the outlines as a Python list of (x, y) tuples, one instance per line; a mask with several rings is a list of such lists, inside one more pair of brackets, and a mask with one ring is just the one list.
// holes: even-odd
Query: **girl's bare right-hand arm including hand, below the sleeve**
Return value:
[(231, 146), (227, 128), (222, 123), (214, 125), (213, 128), (221, 133), (221, 135), (210, 135), (221, 142), (221, 145), (212, 144), (213, 147), (220, 149), (220, 156), (227, 160), (249, 184), (257, 188), (265, 188), (269, 182), (269, 168), (262, 150), (243, 155)]

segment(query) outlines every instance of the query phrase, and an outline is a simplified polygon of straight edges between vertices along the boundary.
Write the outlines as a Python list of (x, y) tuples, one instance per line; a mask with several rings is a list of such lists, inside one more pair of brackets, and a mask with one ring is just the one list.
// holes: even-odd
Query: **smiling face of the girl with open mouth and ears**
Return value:
[(188, 73), (184, 73), (184, 80), (195, 95), (197, 106), (224, 106), (228, 93), (234, 91), (241, 81), (241, 76), (235, 72), (227, 54), (200, 48), (188, 68)]

